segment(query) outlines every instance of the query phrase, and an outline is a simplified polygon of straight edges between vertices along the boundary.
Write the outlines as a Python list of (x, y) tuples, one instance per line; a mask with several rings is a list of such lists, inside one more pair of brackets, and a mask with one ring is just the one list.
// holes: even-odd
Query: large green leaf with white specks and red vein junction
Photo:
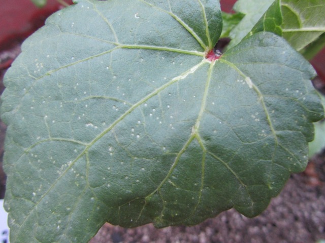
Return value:
[(210, 61), (220, 33), (217, 0), (80, 0), (29, 37), (1, 107), (11, 240), (261, 213), (306, 166), (315, 72), (265, 32)]

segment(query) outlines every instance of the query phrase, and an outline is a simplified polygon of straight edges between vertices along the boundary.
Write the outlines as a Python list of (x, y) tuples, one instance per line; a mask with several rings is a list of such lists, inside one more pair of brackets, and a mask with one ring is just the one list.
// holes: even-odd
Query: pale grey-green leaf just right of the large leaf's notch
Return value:
[(232, 48), (240, 43), (254, 27), (257, 21), (264, 15), (274, 0), (238, 0), (234, 5), (234, 10), (245, 14), (242, 21), (230, 32), (232, 41), (227, 47)]

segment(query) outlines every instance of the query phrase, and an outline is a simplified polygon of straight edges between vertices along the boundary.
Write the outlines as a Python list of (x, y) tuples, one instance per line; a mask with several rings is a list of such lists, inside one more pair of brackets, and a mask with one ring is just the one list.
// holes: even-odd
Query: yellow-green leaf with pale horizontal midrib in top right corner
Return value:
[(323, 0), (282, 0), (283, 37), (301, 51), (325, 32)]

